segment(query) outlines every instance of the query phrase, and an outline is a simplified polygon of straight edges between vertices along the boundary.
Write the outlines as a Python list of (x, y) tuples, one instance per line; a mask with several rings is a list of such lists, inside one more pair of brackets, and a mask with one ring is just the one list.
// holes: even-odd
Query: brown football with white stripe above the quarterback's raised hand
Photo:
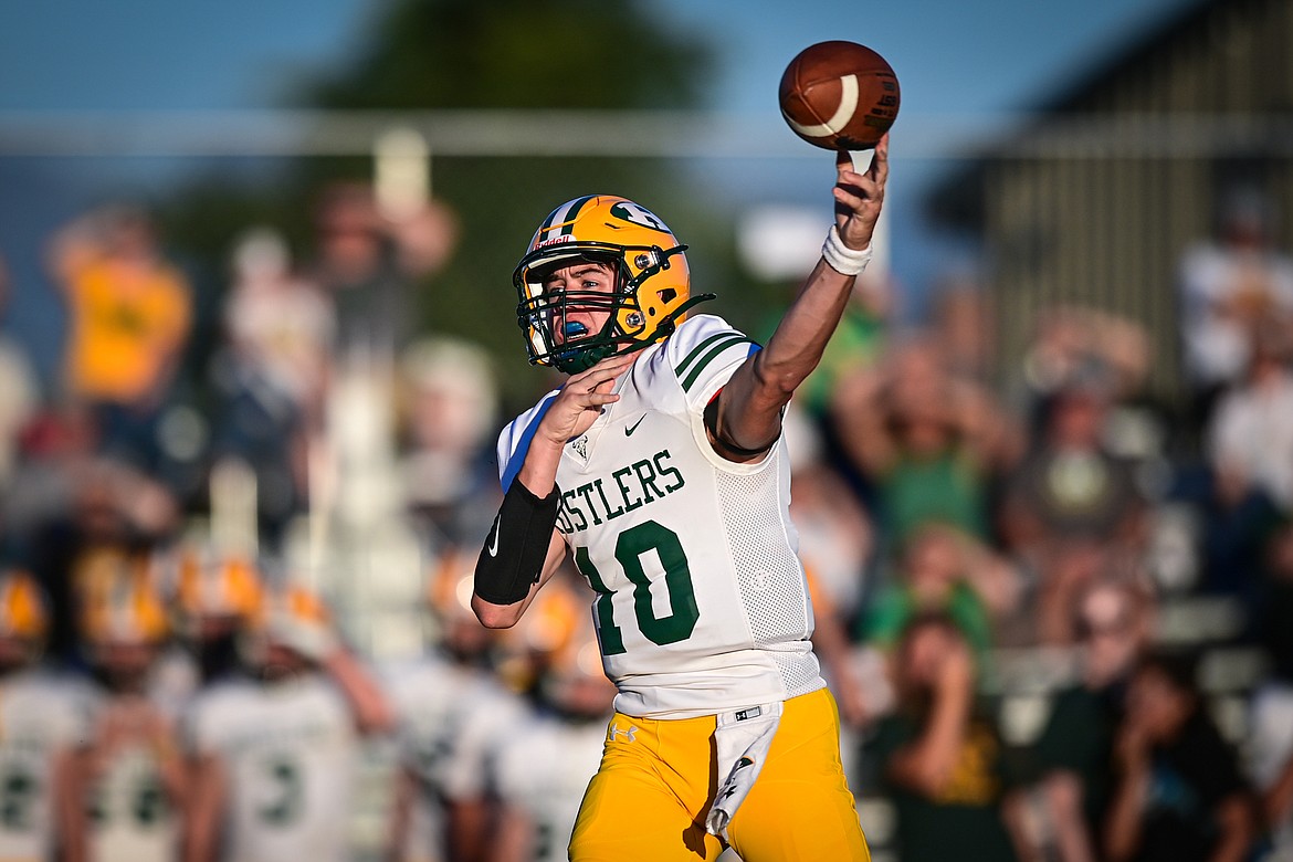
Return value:
[(897, 76), (883, 57), (852, 41), (820, 41), (781, 75), (781, 115), (826, 150), (869, 150), (897, 119)]

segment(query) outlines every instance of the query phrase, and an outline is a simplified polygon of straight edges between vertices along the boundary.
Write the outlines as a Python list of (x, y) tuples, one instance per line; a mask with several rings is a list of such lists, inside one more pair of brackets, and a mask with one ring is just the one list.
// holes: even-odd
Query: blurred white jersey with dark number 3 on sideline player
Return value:
[(190, 746), (221, 757), (228, 773), (224, 858), (349, 858), (358, 739), (330, 680), (217, 682), (197, 695), (187, 719)]

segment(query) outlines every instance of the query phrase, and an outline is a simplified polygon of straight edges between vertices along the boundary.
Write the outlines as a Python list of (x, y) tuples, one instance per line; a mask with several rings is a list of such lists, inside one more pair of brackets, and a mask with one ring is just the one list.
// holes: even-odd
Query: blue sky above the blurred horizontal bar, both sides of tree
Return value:
[[(274, 106), (344, 58), (385, 0), (0, 3), (0, 110)], [(724, 56), (716, 102), (768, 106), (785, 62), (852, 39), (897, 70), (904, 110), (1024, 107), (1190, 0), (646, 0)]]

